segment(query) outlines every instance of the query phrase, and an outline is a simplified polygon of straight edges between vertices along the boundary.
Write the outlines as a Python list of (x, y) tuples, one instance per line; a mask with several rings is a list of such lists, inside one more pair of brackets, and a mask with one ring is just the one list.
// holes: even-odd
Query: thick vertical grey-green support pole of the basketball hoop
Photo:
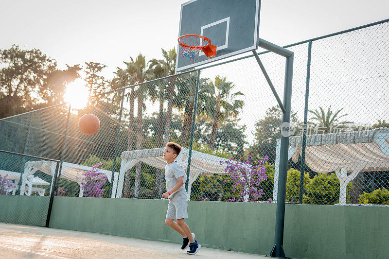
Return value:
[[(292, 76), (293, 76), (293, 52), (286, 57), (285, 86), (283, 94), (283, 105), (286, 113), (283, 114), (283, 125), (290, 122), (290, 109), (292, 101)], [(283, 251), (283, 224), (285, 220), (285, 190), (286, 172), (288, 165), (289, 132), (284, 134), (281, 129), (281, 152), (280, 152), (280, 176), (278, 179), (278, 198), (276, 212), (276, 230), (274, 234), (274, 247), (270, 253), (272, 257), (285, 258)]]

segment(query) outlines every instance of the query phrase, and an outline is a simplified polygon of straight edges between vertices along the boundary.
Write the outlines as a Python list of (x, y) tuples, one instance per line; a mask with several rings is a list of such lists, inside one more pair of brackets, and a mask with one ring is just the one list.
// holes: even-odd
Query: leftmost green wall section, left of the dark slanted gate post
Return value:
[(45, 226), (49, 196), (0, 195), (0, 222)]

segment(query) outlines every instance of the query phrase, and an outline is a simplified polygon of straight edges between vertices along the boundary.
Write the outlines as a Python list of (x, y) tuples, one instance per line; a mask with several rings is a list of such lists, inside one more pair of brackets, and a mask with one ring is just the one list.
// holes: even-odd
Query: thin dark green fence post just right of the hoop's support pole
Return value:
[(302, 194), (304, 193), (304, 171), (305, 171), (305, 145), (307, 140), (307, 120), (308, 120), (308, 97), (309, 97), (309, 78), (311, 75), (311, 51), (312, 41), (308, 43), (308, 61), (307, 61), (307, 80), (305, 86), (305, 106), (304, 106), (304, 125), (302, 129), (302, 147), (300, 161), (300, 191), (299, 203), (302, 204)]

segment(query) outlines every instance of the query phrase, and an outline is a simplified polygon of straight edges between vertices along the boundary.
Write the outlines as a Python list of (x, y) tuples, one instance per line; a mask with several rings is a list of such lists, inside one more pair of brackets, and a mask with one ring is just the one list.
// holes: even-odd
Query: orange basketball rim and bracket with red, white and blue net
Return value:
[(195, 61), (198, 58), (200, 51), (210, 58), (216, 55), (216, 46), (211, 45), (211, 40), (201, 35), (182, 35), (178, 38), (179, 46), (181, 47), (180, 55), (189, 57), (190, 61)]

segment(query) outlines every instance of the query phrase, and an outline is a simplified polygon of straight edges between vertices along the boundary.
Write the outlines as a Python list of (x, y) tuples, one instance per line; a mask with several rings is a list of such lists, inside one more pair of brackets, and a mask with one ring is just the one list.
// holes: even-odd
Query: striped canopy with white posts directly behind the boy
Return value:
[[(165, 169), (166, 161), (163, 160), (164, 147), (124, 151), (121, 155), (122, 164), (119, 173), (118, 191), (116, 198), (122, 197), (124, 174), (131, 169), (137, 162), (143, 162), (155, 168)], [(182, 148), (180, 154), (177, 156), (177, 163), (181, 165), (185, 171), (188, 171), (188, 158), (189, 149)], [(227, 164), (225, 163), (229, 159), (219, 157), (216, 155), (209, 155), (198, 151), (192, 151), (190, 175), (188, 177), (188, 197), (191, 196), (192, 183), (195, 182), (200, 174), (225, 174)], [(220, 164), (220, 161), (223, 164)]]

